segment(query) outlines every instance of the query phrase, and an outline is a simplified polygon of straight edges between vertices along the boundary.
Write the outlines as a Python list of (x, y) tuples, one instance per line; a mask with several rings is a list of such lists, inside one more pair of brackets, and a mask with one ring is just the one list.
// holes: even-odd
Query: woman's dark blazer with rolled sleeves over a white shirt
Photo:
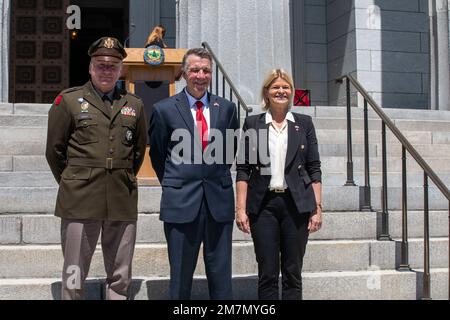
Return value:
[[(295, 123), (288, 121), (288, 147), (284, 176), (298, 212), (310, 213), (316, 208), (311, 183), (322, 179), (317, 138), (310, 116), (294, 112), (292, 114)], [(268, 136), (261, 134), (263, 129), (268, 135), (269, 124), (265, 123), (265, 113), (245, 119), (236, 165), (236, 181), (248, 181), (247, 212), (253, 215), (257, 215), (260, 211), (271, 178), (270, 162), (263, 163), (264, 158), (270, 159), (270, 157), (264, 154), (264, 150), (258, 148), (259, 143), (262, 143), (267, 152), (269, 149)], [(259, 134), (250, 134), (252, 131)], [(252, 161), (250, 152), (257, 152), (257, 156), (254, 157), (256, 161)], [(264, 155), (266, 157), (263, 157)]]

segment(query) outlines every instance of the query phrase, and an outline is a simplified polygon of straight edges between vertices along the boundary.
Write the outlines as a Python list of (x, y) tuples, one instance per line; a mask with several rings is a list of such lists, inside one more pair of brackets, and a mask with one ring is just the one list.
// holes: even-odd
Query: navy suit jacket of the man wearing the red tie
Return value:
[[(227, 143), (231, 143), (225, 139), (226, 130), (236, 130), (239, 127), (236, 105), (215, 95), (209, 95), (208, 98), (208, 130), (210, 133), (212, 129), (217, 130), (216, 133), (220, 132), (224, 138), (222, 151), (225, 152)], [(188, 163), (179, 164), (174, 161), (176, 159), (172, 159), (172, 151), (180, 147), (178, 139), (171, 141), (176, 129), (185, 129), (190, 134), (190, 148), (185, 150), (190, 154), (182, 154)], [(195, 123), (184, 90), (153, 106), (149, 125), (150, 158), (162, 186), (160, 219), (169, 223), (192, 222), (197, 217), (205, 196), (217, 222), (233, 221), (231, 163), (224, 161), (222, 164), (205, 164), (197, 159), (195, 163), (198, 164), (194, 164), (194, 156), (202, 154), (201, 142), (198, 136), (194, 136), (194, 130)], [(232, 159), (235, 150), (232, 151)]]

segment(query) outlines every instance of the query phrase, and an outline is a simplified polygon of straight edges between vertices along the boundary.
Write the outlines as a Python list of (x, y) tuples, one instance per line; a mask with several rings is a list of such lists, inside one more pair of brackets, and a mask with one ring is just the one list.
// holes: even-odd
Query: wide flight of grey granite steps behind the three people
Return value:
[[(0, 104), (0, 298), (59, 299), (62, 253), (60, 219), (53, 216), (57, 185), (44, 157), (50, 105)], [(346, 181), (346, 110), (342, 107), (293, 108), (313, 116), (323, 169), (324, 224), (310, 237), (305, 256), (305, 299), (420, 299), (423, 272), (423, 171), (408, 156), (409, 258), (414, 271), (398, 272), (401, 238), (401, 149), (388, 142), (390, 235), (376, 241), (377, 213), (359, 212), (359, 186)], [(450, 113), (385, 109), (442, 180), (450, 184)], [(363, 113), (352, 108), (355, 182), (364, 178)], [(372, 207), (379, 210), (381, 121), (369, 111)], [(420, 119), (420, 120), (417, 120)], [(432, 184), (431, 184), (432, 185)], [(133, 295), (168, 298), (168, 258), (162, 222), (161, 188), (139, 187), (139, 219)], [(448, 298), (448, 201), (430, 189), (431, 293)], [(236, 299), (256, 299), (257, 265), (251, 237), (233, 231), (233, 283)], [(201, 255), (201, 253), (200, 253)], [(207, 299), (199, 259), (193, 299)], [(96, 250), (87, 282), (88, 299), (104, 297), (104, 267)]]

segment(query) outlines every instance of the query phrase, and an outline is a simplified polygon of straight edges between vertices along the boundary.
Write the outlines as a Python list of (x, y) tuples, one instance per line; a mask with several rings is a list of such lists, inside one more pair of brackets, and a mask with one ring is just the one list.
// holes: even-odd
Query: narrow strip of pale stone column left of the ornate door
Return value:
[(8, 102), (10, 0), (0, 0), (0, 102)]

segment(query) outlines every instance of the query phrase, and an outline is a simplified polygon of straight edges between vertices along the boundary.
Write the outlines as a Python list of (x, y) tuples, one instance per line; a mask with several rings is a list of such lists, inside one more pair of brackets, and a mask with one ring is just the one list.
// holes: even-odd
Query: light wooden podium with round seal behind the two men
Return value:
[[(121, 79), (125, 80), (125, 86), (129, 92), (136, 92), (137, 81), (168, 81), (169, 96), (176, 93), (175, 81), (181, 74), (181, 63), (186, 49), (163, 49), (164, 62), (156, 66), (145, 63), (144, 48), (127, 48), (125, 51), (127, 57), (123, 60), (124, 67)], [(137, 175), (138, 183), (140, 185), (159, 185), (150, 162), (149, 150), (150, 146), (147, 145), (144, 163)]]

